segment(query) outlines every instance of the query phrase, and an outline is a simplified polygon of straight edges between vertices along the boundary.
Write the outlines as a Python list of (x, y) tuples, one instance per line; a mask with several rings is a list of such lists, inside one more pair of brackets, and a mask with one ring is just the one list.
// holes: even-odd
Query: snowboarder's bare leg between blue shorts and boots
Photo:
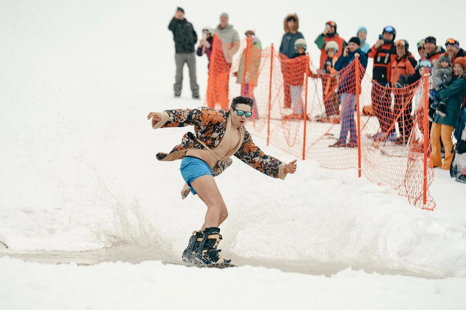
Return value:
[(206, 218), (202, 228), (219, 227), (228, 217), (228, 211), (214, 178), (211, 175), (200, 176), (191, 182), (191, 186), (207, 206)]

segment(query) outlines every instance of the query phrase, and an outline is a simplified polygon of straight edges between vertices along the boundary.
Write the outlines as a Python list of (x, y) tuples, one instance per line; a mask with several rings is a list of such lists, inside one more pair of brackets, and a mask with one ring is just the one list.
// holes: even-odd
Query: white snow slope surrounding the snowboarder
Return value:
[[(202, 105), (189, 99), (186, 80), (183, 97), (171, 96), (173, 46), (166, 26), (175, 6), (149, 1), (11, 1), (0, 5), (4, 42), (0, 45), (0, 240), (10, 246), (0, 249), (0, 256), (17, 257), (37, 249), (84, 251), (126, 241), (131, 251), (117, 253), (124, 254), (123, 261), (141, 261), (140, 252), (154, 249), (154, 244), (155, 252), (146, 258), (162, 259), (171, 253), (178, 257), (191, 232), (202, 224), (205, 206), (192, 196), (181, 200), (179, 162), (160, 163), (154, 156), (178, 144), (186, 129), (154, 131), (145, 118), (150, 111)], [(218, 12), (212, 7), (204, 12), (190, 2), (178, 5), (184, 6), (186, 17), (198, 30), (205, 24), (213, 26), (223, 10), (228, 10), (240, 33), (251, 23), (238, 17), (240, 8), (226, 4), (219, 4)], [(258, 2), (247, 5), (260, 11)], [(311, 32), (320, 29), (327, 17), (315, 19), (320, 16), (315, 12), (322, 12), (321, 4), (312, 10), (309, 6), (297, 1), (289, 10), (313, 16), (301, 22), (301, 28)], [(332, 17), (344, 37), (351, 35), (343, 30), (345, 22), (348, 28), (360, 26), (345, 17), (348, 9), (337, 6)], [(267, 16), (254, 15), (263, 42), (279, 43), (283, 14), (277, 10)], [(398, 22), (413, 38), (424, 36), (411, 28), (412, 20), (400, 18)], [(384, 25), (372, 17), (366, 26), (378, 29)], [(423, 32), (440, 31), (432, 25), (425, 27)], [(460, 28), (442, 27), (438, 36), (456, 35)], [(464, 34), (452, 36), (465, 41), (460, 35)], [(370, 30), (370, 38), (375, 37)], [(317, 59), (318, 54), (313, 57)], [(206, 59), (197, 60), (202, 93)], [(283, 161), (294, 159), (255, 140)], [(240, 190), (239, 183), (247, 185), (247, 190)], [(322, 308), (350, 304), (357, 309), (389, 309), (405, 305), (408, 298), (416, 302), (410, 309), (440, 304), (445, 309), (464, 307), (459, 288), (465, 287), (466, 276), (462, 203), (466, 191), (447, 171), (436, 171), (431, 187), (437, 202), (433, 212), (409, 205), (389, 187), (357, 179), (356, 171), (329, 171), (312, 160), (300, 161), (299, 171), (281, 181), (266, 178), (235, 159), (218, 184), (230, 214), (221, 227), (225, 257), (276, 268), (308, 262), (308, 268), (327, 264), (462, 278), (433, 280), (351, 270), (328, 278), (259, 267), (197, 270), (158, 262), (76, 267), (1, 258), (0, 270), (7, 271), (0, 275), (1, 299), (7, 301), (2, 309), (31, 308), (31, 303), (44, 296), (55, 300), (47, 303), (47, 309), (66, 309), (66, 301), (69, 309), (82, 309), (86, 304), (99, 309), (108, 303), (115, 305), (109, 309), (118, 309), (117, 304), (127, 309), (137, 300), (134, 297), (154, 290), (169, 303), (179, 294), (174, 296), (169, 288), (176, 285), (182, 295), (192, 296), (187, 283), (197, 277), (215, 279), (219, 287), (229, 288), (228, 294), (239, 293), (250, 305), (265, 300), (279, 306), (288, 294), (296, 293), (296, 304), (309, 303), (312, 297)], [(69, 261), (79, 263), (80, 255)], [(316, 271), (328, 274), (324, 269)], [(219, 276), (217, 272), (224, 273)], [(245, 284), (245, 279), (251, 284)], [(89, 281), (102, 283), (106, 293), (93, 290), (95, 284), (78, 285)], [(294, 283), (299, 285), (290, 285)], [(252, 294), (255, 287), (260, 287), (257, 295)], [(50, 289), (56, 295), (45, 293)], [(310, 290), (315, 294), (310, 295)], [(87, 301), (80, 298), (83, 293), (89, 296)], [(336, 294), (342, 298), (332, 298)], [(260, 299), (254, 301), (254, 296)], [(229, 309), (245, 302), (229, 300)], [(46, 308), (45, 303), (42, 307)]]

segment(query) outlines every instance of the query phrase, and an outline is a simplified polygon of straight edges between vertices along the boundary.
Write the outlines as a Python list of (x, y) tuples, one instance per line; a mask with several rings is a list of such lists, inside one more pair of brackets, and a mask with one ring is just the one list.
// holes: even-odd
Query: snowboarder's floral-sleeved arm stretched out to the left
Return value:
[(184, 127), (199, 125), (201, 111), (198, 109), (165, 110), (164, 112), (150, 112), (147, 119), (152, 119), (152, 128)]

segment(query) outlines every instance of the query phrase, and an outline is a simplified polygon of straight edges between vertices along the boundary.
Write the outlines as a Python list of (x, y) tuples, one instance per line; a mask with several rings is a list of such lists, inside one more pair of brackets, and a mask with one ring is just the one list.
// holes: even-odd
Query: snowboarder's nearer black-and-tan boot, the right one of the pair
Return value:
[(231, 259), (225, 259), (219, 256), (219, 252), (222, 250), (217, 250), (220, 240), (222, 240), (222, 235), (220, 235), (220, 228), (218, 227), (209, 227), (202, 230), (203, 237), (199, 244), (198, 250), (196, 251), (196, 260), (200, 264), (229, 264)]

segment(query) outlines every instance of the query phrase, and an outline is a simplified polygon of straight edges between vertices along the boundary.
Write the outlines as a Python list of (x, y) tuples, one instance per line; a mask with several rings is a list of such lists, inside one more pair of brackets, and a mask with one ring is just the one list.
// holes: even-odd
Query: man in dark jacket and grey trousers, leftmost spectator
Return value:
[(196, 81), (196, 58), (194, 56), (194, 44), (196, 44), (198, 36), (192, 24), (185, 19), (185, 11), (181, 7), (177, 8), (175, 16), (168, 25), (168, 30), (173, 33), (173, 41), (175, 41), (176, 76), (173, 85), (174, 95), (176, 98), (181, 95), (183, 66), (187, 63), (192, 98), (200, 99), (199, 85)]

